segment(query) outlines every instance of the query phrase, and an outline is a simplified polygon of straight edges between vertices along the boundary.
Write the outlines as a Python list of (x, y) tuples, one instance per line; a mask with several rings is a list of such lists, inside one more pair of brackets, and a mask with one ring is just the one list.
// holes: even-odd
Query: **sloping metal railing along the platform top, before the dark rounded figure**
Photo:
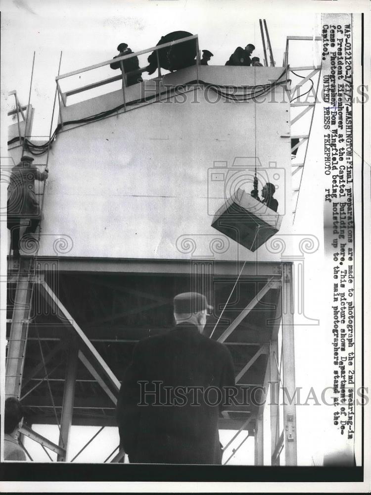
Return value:
[[(69, 97), (69, 96), (77, 95), (79, 93), (83, 93), (85, 91), (89, 91), (89, 90), (92, 90), (94, 88), (98, 88), (100, 86), (104, 86), (106, 84), (110, 84), (112, 82), (119, 81), (121, 79), (122, 80), (123, 99), (124, 99), (124, 105), (125, 105), (126, 104), (125, 89), (127, 88), (126, 76), (139, 75), (139, 74), (142, 74), (143, 72), (146, 72), (148, 69), (148, 65), (146, 65), (145, 67), (141, 67), (137, 70), (125, 73), (125, 71), (124, 71), (124, 61), (125, 60), (129, 60), (130, 58), (133, 58), (133, 57), (138, 57), (139, 55), (143, 55), (145, 53), (155, 52), (156, 57), (157, 57), (158, 77), (161, 78), (161, 67), (160, 67), (160, 63), (159, 63), (159, 54), (158, 54), (159, 50), (164, 49), (164, 48), (169, 48), (169, 47), (172, 47), (174, 45), (178, 45), (180, 43), (185, 43), (185, 42), (191, 41), (191, 40), (196, 41), (195, 65), (196, 65), (197, 82), (198, 82), (198, 65), (200, 62), (200, 54), (199, 54), (199, 48), (198, 48), (198, 35), (193, 35), (193, 36), (188, 36), (186, 38), (181, 38), (180, 40), (172, 41), (169, 43), (164, 43), (163, 45), (158, 45), (156, 47), (151, 47), (151, 48), (147, 48), (145, 50), (136, 51), (134, 53), (129, 53), (128, 55), (122, 55), (120, 57), (112, 58), (110, 60), (106, 60), (105, 62), (100, 62), (100, 63), (94, 64), (94, 65), (90, 65), (89, 67), (84, 67), (83, 69), (78, 69), (78, 70), (74, 70), (72, 72), (67, 72), (66, 74), (61, 74), (55, 78), (58, 96), (59, 96), (60, 100), (62, 101), (63, 106), (66, 106), (67, 105), (67, 97)], [(75, 88), (75, 89), (67, 91), (65, 93), (62, 92), (62, 90), (60, 88), (60, 84), (59, 84), (59, 81), (61, 81), (62, 79), (66, 79), (66, 78), (71, 77), (71, 76), (76, 76), (77, 74), (82, 74), (84, 72), (88, 72), (90, 70), (94, 70), (94, 69), (97, 69), (99, 67), (104, 67), (105, 65), (110, 65), (111, 63), (117, 63), (117, 62), (119, 62), (120, 66), (121, 66), (121, 76), (118, 75), (118, 76), (110, 77), (108, 79), (104, 79), (101, 81), (97, 81), (95, 83), (81, 86), (79, 88)], [(125, 108), (125, 110), (126, 110), (126, 108)]]

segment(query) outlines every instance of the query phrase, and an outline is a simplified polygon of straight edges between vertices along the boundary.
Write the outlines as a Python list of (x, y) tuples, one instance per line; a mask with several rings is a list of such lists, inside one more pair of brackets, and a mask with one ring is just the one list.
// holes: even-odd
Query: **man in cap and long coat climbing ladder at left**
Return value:
[(35, 180), (45, 181), (48, 169), (40, 172), (31, 156), (22, 156), (21, 161), (11, 169), (7, 198), (7, 228), (10, 230), (10, 247), (13, 255), (19, 256), (20, 222), (29, 219), (25, 234), (34, 234), (42, 219), (39, 201), (35, 194)]

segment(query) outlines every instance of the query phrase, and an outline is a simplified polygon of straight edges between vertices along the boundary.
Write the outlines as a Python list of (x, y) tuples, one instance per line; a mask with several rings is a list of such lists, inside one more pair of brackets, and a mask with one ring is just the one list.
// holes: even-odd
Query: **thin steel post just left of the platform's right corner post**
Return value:
[[(273, 456), (279, 438), (279, 383), (276, 363), (276, 359), (278, 361), (278, 340), (271, 342), (269, 356), (271, 366), (271, 456)], [(272, 466), (279, 466), (279, 457), (276, 460), (272, 459)]]

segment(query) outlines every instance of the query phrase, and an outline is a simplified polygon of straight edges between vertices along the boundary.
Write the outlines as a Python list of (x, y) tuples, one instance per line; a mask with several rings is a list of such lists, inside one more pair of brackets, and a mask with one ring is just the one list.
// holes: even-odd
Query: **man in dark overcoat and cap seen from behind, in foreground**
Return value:
[(179, 294), (175, 328), (135, 347), (116, 410), (130, 462), (222, 463), (218, 419), (234, 370), (227, 347), (202, 335), (209, 308), (201, 294)]

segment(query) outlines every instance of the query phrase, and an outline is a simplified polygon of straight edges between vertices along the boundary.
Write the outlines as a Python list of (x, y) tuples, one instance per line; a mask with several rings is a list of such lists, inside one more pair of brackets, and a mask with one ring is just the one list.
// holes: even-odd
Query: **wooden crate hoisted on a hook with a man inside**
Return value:
[(281, 226), (282, 215), (242, 189), (215, 213), (211, 226), (250, 251), (262, 246)]

